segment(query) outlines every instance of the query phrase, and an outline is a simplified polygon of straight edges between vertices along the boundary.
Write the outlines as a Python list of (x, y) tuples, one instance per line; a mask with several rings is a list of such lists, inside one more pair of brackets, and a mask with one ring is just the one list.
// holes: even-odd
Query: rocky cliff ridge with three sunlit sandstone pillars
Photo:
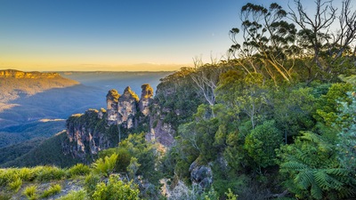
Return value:
[(157, 140), (164, 146), (172, 144), (174, 130), (163, 122), (150, 84), (142, 85), (140, 99), (126, 87), (122, 94), (109, 90), (106, 102), (106, 109), (89, 109), (69, 117), (67, 139), (62, 141), (64, 154), (90, 163), (100, 150), (116, 147), (128, 134), (140, 132), (147, 134), (147, 140)]

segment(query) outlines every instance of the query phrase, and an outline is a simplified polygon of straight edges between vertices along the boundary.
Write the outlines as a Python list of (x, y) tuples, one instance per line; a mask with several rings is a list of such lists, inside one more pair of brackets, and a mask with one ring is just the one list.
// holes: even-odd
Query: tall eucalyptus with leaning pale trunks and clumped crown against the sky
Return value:
[(287, 12), (275, 3), (269, 8), (250, 3), (241, 8), (243, 42), (239, 44), (239, 28), (232, 28), (230, 52), (248, 74), (271, 76), (275, 84), (279, 76), (287, 82), (292, 81), (294, 65), (288, 58), (294, 49), (296, 29), (286, 17)]

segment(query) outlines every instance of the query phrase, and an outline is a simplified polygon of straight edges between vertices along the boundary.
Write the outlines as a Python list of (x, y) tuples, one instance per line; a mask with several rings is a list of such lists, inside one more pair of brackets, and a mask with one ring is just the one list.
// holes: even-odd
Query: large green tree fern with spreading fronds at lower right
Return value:
[(340, 168), (335, 147), (320, 135), (303, 132), (295, 144), (282, 148), (280, 172), (285, 187), (297, 198), (340, 199), (353, 195), (355, 178)]

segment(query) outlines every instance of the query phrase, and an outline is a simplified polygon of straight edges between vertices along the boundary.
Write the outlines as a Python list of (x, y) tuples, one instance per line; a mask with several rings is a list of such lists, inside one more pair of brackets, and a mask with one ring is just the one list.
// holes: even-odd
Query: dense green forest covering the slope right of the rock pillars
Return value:
[[(289, 11), (244, 5), (226, 58), (195, 60), (158, 84), (151, 112), (172, 124), (173, 145), (129, 134), (90, 168), (53, 178), (84, 176), (83, 189), (62, 199), (356, 199), (350, 3), (316, 0), (315, 14), (299, 0)], [(27, 180), (0, 171), (3, 196), (39, 180), (35, 169)]]

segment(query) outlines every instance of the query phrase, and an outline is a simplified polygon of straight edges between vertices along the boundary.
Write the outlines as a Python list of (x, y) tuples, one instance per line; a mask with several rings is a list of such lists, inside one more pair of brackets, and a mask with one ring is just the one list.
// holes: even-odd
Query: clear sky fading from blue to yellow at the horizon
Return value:
[(286, 0), (0, 0), (0, 69), (177, 70), (220, 59), (241, 6), (272, 2), (287, 10)]

